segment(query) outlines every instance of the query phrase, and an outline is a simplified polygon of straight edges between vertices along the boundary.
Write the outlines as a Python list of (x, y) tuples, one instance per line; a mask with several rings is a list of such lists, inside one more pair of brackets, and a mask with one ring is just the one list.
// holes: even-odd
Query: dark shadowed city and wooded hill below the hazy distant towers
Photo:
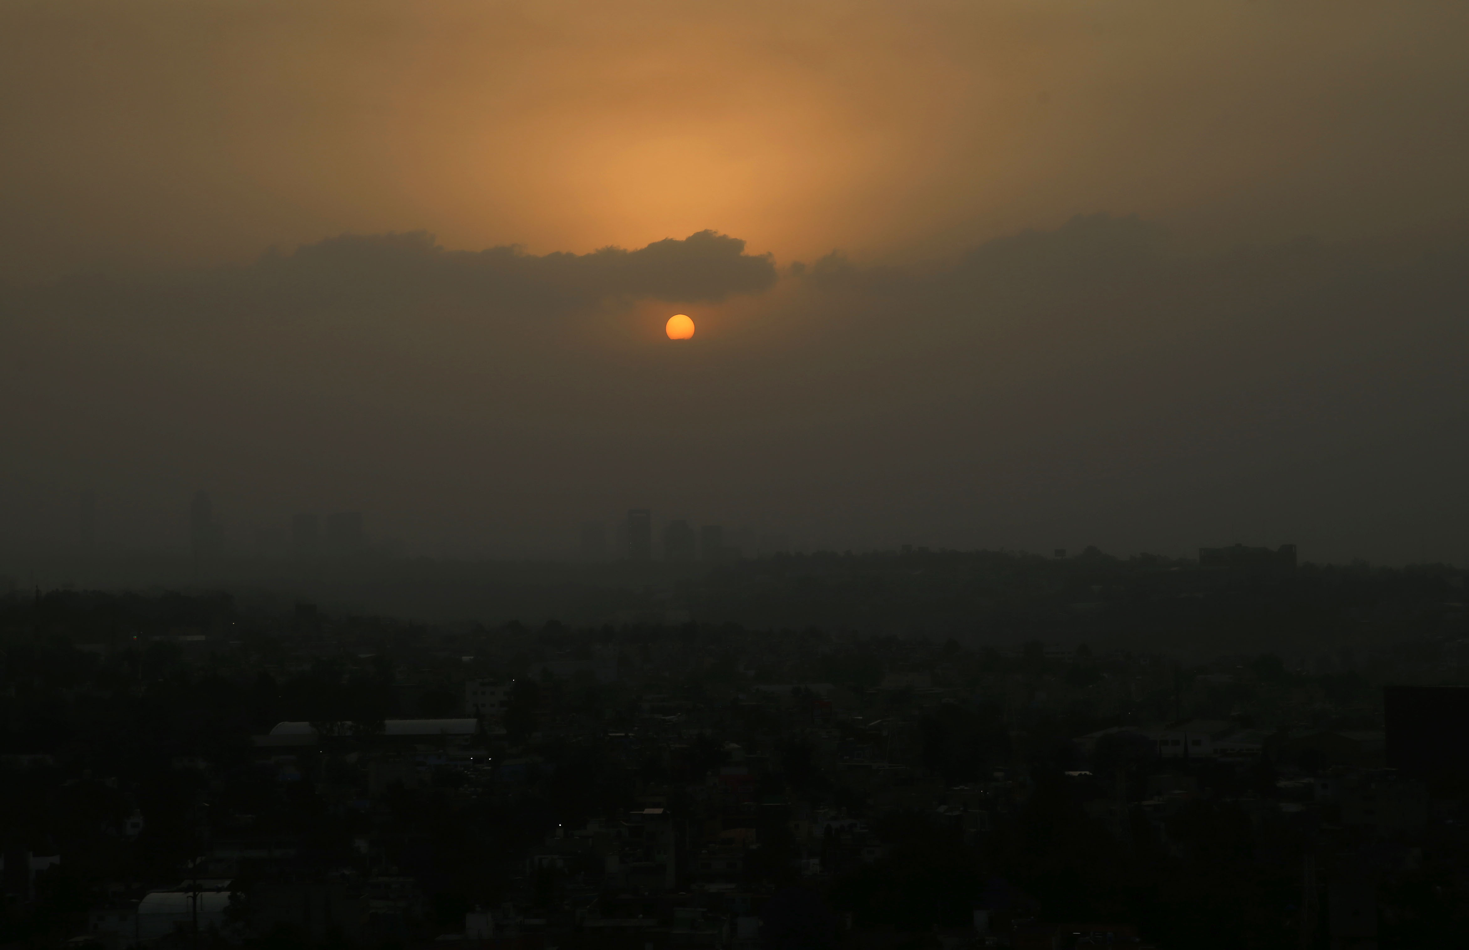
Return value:
[[(1465, 576), (779, 556), (585, 626), (12, 590), (0, 944), (1463, 946)], [(759, 597), (836, 621), (721, 619)]]

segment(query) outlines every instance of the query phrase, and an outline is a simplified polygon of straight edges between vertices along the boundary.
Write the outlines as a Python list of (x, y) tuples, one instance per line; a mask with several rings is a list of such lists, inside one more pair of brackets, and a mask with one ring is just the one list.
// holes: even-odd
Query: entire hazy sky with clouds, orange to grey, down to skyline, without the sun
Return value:
[(1469, 563), (1465, 37), (1463, 0), (0, 0), (0, 557), (82, 493), (178, 549), (207, 490), (241, 550), (652, 507)]

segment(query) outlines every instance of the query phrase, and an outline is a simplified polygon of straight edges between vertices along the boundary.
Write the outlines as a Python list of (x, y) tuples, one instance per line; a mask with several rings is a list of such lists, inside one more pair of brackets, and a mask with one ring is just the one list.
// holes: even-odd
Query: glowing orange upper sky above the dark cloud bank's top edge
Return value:
[(1466, 35), (1447, 0), (4, 0), (0, 268), (1360, 237), (1463, 213)]

